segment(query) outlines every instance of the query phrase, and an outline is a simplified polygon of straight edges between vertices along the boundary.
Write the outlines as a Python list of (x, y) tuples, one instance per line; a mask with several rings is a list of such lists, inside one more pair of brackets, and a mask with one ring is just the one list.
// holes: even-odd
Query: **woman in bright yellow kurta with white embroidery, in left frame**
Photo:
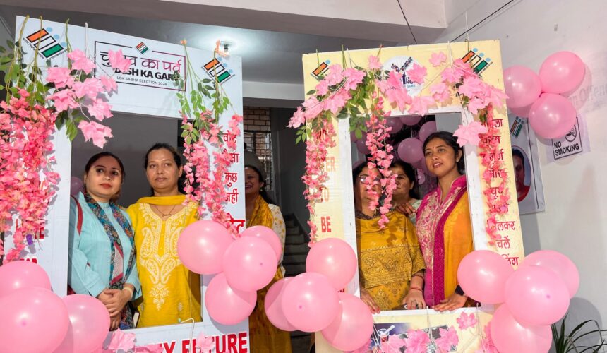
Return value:
[(156, 143), (145, 155), (145, 174), (153, 196), (140, 198), (127, 212), (133, 221), (142, 301), (138, 328), (201, 321), (200, 275), (179, 260), (181, 230), (196, 222), (196, 204), (184, 205), (177, 184), (181, 158), (166, 143)]

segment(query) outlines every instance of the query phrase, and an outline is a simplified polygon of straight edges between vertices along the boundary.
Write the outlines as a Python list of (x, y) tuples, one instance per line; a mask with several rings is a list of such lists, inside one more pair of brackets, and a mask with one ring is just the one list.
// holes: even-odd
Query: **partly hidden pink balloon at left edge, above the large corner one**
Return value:
[(51, 289), (51, 280), (42, 266), (31, 261), (11, 261), (0, 266), (0, 297), (32, 287)]

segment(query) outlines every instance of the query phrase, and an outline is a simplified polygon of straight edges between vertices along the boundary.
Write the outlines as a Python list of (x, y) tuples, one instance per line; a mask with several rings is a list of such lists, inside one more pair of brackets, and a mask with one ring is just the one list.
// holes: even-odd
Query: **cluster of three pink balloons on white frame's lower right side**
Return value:
[(234, 325), (251, 315), (257, 291), (274, 277), (282, 244), (268, 227), (249, 227), (234, 239), (219, 223), (200, 220), (181, 232), (177, 253), (193, 272), (217, 274), (205, 292), (205, 306), (213, 320)]

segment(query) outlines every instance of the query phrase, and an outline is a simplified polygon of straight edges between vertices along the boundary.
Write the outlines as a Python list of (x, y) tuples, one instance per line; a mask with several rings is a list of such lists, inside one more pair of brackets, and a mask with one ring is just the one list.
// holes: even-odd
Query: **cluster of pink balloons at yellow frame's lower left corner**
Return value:
[(340, 350), (359, 349), (373, 333), (373, 316), (359, 297), (339, 293), (356, 267), (356, 254), (347, 242), (318, 241), (308, 253), (305, 273), (283, 278), (268, 290), (268, 319), (281, 330), (320, 331)]

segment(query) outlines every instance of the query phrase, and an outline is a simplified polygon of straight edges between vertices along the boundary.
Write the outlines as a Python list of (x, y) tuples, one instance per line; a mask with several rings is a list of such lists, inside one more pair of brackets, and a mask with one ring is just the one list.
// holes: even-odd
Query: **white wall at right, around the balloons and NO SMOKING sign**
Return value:
[[(447, 42), (506, 1), (447, 0), (448, 27), (437, 42)], [(587, 78), (573, 95), (587, 119), (591, 152), (546, 162), (539, 157), (546, 212), (521, 218), (525, 252), (554, 249), (579, 268), (581, 284), (570, 306), (571, 323), (594, 318), (607, 328), (607, 20), (605, 0), (515, 1), (479, 25), (470, 40), (501, 41), (503, 66), (539, 71), (553, 52), (569, 50), (587, 64)], [(458, 41), (462, 41), (463, 38)]]

